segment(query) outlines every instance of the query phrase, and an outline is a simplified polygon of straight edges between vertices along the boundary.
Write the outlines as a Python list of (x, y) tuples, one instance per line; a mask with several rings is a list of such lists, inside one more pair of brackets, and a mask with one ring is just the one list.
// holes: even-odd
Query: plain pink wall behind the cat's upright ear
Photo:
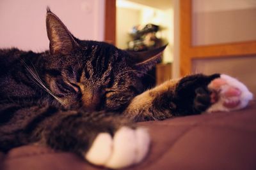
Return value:
[(77, 38), (102, 41), (104, 4), (105, 0), (1, 0), (0, 48), (47, 50), (46, 6), (51, 7)]

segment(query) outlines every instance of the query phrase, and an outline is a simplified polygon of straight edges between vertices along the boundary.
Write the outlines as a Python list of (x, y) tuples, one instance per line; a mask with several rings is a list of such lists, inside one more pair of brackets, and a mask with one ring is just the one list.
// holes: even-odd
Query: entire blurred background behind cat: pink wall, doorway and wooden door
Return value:
[(47, 50), (46, 6), (79, 39), (134, 51), (168, 43), (148, 87), (191, 73), (225, 73), (256, 95), (255, 0), (1, 0), (0, 48)]

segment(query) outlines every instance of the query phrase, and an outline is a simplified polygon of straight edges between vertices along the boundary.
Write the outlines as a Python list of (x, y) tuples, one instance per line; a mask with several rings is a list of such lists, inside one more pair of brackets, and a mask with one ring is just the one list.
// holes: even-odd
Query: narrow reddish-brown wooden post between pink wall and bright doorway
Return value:
[(104, 41), (116, 44), (116, 0), (105, 0)]

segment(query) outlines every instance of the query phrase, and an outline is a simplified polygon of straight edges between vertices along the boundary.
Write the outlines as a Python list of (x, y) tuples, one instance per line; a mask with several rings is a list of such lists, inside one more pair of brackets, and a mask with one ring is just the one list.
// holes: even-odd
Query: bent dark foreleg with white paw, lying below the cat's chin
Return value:
[(46, 145), (77, 153), (92, 164), (111, 169), (137, 164), (147, 155), (150, 138), (146, 129), (124, 118), (102, 114), (95, 118), (92, 114), (98, 116), (77, 113), (57, 120), (60, 124), (45, 129)]

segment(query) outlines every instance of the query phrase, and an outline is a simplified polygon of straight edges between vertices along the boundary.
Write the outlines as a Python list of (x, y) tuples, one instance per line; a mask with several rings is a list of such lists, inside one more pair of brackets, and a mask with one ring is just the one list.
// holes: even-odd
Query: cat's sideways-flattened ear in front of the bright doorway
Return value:
[[(145, 52), (128, 52), (132, 63), (136, 67), (138, 71), (141, 73), (147, 73), (148, 70), (152, 69), (152, 67), (156, 66), (157, 62), (161, 60), (163, 55), (163, 51), (167, 45), (161, 46), (154, 50), (148, 50)], [(138, 76), (142, 76), (143, 74), (139, 74)]]

